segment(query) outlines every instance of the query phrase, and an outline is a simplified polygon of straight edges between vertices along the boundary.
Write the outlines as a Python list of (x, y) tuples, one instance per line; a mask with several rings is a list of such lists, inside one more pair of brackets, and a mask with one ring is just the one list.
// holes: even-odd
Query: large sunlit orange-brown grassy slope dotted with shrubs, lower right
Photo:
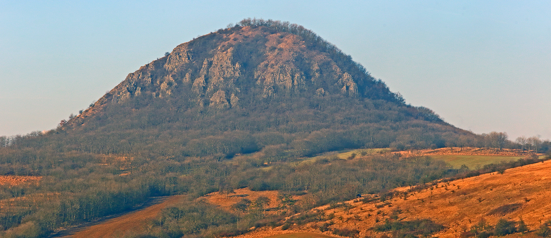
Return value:
[[(401, 191), (407, 188), (399, 189)], [(379, 237), (370, 230), (377, 223), (383, 222), (396, 209), (401, 210), (398, 218), (414, 220), (428, 218), (445, 225), (445, 230), (435, 236), (441, 238), (456, 238), (460, 232), (468, 230), (482, 218), (495, 225), (500, 218), (518, 221), (522, 219), (532, 231), (538, 229), (542, 222), (551, 219), (551, 161), (536, 163), (506, 170), (504, 174), (482, 174), (477, 177), (460, 179), (449, 183), (439, 183), (437, 188), (411, 193), (403, 197), (382, 202), (364, 204), (359, 199), (350, 200), (353, 205), (350, 213), (341, 208), (324, 209), (326, 214), (334, 213), (335, 223), (331, 228), (349, 228), (360, 230), (360, 237), (371, 235)], [(386, 203), (385, 202), (385, 203)], [(516, 204), (514, 210), (496, 213), (501, 206)], [(379, 205), (379, 208), (376, 207)], [(499, 209), (497, 209), (499, 210)], [(493, 212), (494, 211), (494, 212)], [(379, 214), (377, 214), (379, 213)], [(321, 223), (324, 223), (323, 221)], [(312, 228), (321, 223), (309, 223), (302, 226), (291, 226), (287, 232), (316, 232), (331, 235), (329, 231), (322, 233)], [(242, 238), (267, 237), (281, 232), (281, 228), (264, 229), (242, 235)], [(521, 236), (520, 234), (510, 235)], [(532, 237), (533, 232), (522, 235)]]

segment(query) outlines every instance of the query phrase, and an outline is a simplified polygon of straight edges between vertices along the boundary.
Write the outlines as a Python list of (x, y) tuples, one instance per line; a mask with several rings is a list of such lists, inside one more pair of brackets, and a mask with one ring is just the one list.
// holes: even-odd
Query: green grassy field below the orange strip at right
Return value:
[(525, 156), (502, 156), (502, 155), (428, 155), (435, 160), (443, 160), (454, 168), (461, 165), (468, 166), (471, 170), (478, 166), (482, 167), (490, 163), (499, 163), (501, 161), (514, 161)]

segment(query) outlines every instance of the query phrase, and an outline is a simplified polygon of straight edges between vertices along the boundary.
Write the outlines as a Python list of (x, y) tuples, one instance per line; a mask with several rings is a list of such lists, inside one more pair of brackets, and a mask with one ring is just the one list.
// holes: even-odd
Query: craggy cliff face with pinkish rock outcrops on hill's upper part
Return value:
[(82, 116), (106, 103), (139, 95), (179, 97), (175, 88), (187, 88), (184, 92), (197, 107), (219, 110), (239, 107), (241, 98), (292, 94), (395, 99), (382, 82), (359, 68), (348, 72), (333, 56), (299, 35), (267, 27), (219, 30), (183, 43), (168, 56), (129, 73)]

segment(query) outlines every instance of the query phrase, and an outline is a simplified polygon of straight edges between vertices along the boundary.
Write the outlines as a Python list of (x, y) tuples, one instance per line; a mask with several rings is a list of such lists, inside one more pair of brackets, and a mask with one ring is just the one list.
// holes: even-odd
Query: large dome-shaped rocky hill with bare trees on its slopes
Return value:
[(79, 150), (134, 153), (155, 144), (168, 147), (169, 157), (269, 148), (267, 157), (300, 157), (352, 147), (443, 147), (474, 136), (406, 104), (311, 30), (263, 19), (175, 47), (61, 130), (86, 141), (72, 145)]

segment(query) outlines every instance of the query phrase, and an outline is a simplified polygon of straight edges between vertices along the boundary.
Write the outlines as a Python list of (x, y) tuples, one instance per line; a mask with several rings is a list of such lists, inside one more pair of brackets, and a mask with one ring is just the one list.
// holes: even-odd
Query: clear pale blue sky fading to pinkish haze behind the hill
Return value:
[(550, 1), (0, 0), (0, 135), (53, 129), (164, 52), (247, 17), (313, 30), (458, 128), (551, 139)]

